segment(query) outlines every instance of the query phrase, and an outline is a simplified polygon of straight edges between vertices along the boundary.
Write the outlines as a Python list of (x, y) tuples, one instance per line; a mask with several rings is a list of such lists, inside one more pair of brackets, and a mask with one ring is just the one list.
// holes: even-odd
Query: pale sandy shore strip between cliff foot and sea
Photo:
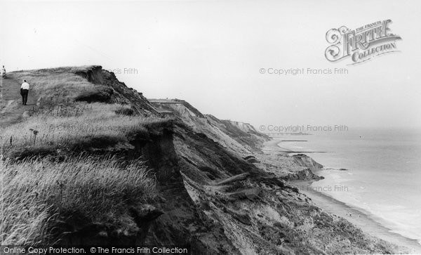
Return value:
[[(280, 138), (274, 138), (265, 143), (265, 153), (276, 153), (276, 154), (288, 154), (288, 148), (282, 148), (279, 146), (281, 143)], [(311, 156), (311, 155), (310, 155)], [(314, 173), (318, 174), (318, 173)], [(392, 233), (389, 228), (385, 228), (383, 225), (375, 221), (375, 218), (370, 214), (367, 214), (365, 211), (359, 208), (349, 207), (347, 204), (333, 199), (332, 197), (318, 192), (312, 188), (310, 181), (294, 181), (291, 184), (296, 185), (300, 192), (304, 193), (309, 197), (314, 204), (326, 211), (328, 214), (334, 214), (345, 218), (350, 223), (361, 228), (364, 233), (378, 237), (387, 242), (392, 242), (393, 244), (401, 247), (400, 253), (404, 254), (421, 254), (421, 245), (417, 240), (411, 240), (409, 238), (403, 237), (399, 234)]]

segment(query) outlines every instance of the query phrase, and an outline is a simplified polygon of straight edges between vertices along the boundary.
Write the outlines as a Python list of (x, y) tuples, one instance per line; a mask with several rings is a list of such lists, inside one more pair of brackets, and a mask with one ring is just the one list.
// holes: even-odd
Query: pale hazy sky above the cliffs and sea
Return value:
[[(421, 1), (0, 1), (0, 10), (8, 72), (102, 65), (147, 98), (256, 127), (421, 127)], [(326, 60), (328, 30), (387, 19), (398, 53)]]

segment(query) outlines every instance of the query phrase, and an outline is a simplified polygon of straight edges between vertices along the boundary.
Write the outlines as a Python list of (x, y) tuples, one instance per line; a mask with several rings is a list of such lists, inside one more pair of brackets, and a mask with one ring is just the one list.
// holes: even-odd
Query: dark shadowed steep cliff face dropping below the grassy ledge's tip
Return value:
[(184, 164), (174, 143), (173, 127), (163, 129), (149, 140), (135, 138), (134, 158), (146, 160), (158, 183), (159, 197), (154, 207), (163, 212), (152, 219), (143, 245), (191, 247), (193, 254), (236, 254), (222, 225), (210, 221), (185, 188)]

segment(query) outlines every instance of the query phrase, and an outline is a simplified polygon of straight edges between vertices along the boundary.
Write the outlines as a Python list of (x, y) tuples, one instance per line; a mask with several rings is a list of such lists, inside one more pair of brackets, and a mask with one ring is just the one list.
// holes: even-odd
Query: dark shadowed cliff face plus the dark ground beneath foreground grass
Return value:
[(60, 218), (53, 226), (53, 235), (60, 240), (56, 244), (104, 247), (172, 244), (188, 247), (192, 254), (239, 254), (221, 223), (211, 221), (187, 192), (185, 162), (175, 146), (184, 128), (183, 124), (168, 122), (152, 127), (147, 135), (133, 133), (128, 137), (131, 146), (93, 148), (96, 154), (112, 153), (127, 161), (146, 162), (151, 169), (149, 174), (156, 178), (157, 196), (148, 204), (126, 204), (126, 208), (121, 208), (128, 211), (125, 221), (130, 228), (93, 223), (82, 214)]

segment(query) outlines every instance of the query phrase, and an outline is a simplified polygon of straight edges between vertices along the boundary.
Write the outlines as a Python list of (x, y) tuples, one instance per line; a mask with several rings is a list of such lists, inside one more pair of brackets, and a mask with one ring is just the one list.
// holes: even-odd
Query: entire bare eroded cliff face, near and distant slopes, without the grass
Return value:
[(134, 133), (124, 149), (102, 148), (146, 161), (156, 176), (156, 200), (131, 208), (133, 232), (87, 224), (69, 231), (65, 244), (86, 244), (89, 233), (90, 242), (99, 244), (173, 244), (191, 247), (192, 254), (392, 252), (389, 244), (324, 213), (284, 181), (314, 178), (312, 170), (321, 165), (311, 158), (262, 155), (258, 148), (268, 138), (248, 124), (202, 115), (180, 101), (151, 104), (112, 73), (102, 71), (102, 79), (90, 75), (113, 89), (114, 102), (131, 104), (144, 116), (160, 117), (161, 107), (174, 118), (147, 136)]

